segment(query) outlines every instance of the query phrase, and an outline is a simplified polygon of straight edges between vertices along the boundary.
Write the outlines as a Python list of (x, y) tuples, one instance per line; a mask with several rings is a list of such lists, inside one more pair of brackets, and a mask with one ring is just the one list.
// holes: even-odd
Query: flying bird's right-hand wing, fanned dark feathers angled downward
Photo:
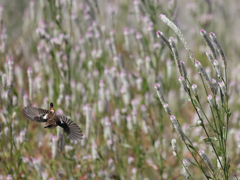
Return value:
[(73, 123), (65, 116), (59, 114), (56, 114), (56, 116), (59, 118), (57, 125), (64, 129), (64, 132), (67, 134), (70, 140), (80, 141), (82, 139), (82, 130), (77, 124)]

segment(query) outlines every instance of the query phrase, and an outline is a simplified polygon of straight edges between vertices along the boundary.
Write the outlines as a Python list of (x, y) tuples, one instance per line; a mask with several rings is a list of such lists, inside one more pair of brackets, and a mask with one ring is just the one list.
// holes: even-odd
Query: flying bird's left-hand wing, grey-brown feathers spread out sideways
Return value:
[(46, 122), (47, 119), (43, 119), (43, 117), (49, 113), (49, 110), (27, 106), (23, 108), (22, 113), (26, 118), (32, 121)]

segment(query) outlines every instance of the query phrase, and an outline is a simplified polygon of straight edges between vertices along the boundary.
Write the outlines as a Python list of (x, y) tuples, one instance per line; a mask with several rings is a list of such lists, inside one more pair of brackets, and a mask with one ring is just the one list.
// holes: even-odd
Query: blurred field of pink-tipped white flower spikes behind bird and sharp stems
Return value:
[[(217, 79), (217, 73), (206, 55), (210, 49), (200, 30), (207, 35), (214, 32), (224, 50), (232, 113), (225, 164), (229, 164), (229, 179), (240, 178), (237, 0), (0, 3), (0, 180), (165, 180), (188, 179), (188, 173), (193, 179), (206, 178), (191, 163), (193, 157), (174, 130), (168, 107), (201, 156), (211, 161), (212, 172), (222, 177), (223, 169), (201, 127), (206, 124), (210, 137), (215, 138), (202, 113), (213, 121), (207, 103), (211, 97), (206, 96), (183, 43), (161, 21), (160, 14), (181, 29), (210, 79)], [(179, 83), (173, 52), (157, 31), (167, 39), (173, 37), (170, 39), (186, 66), (188, 79), (197, 85), (202, 103), (198, 113)], [(217, 59), (222, 68), (219, 55)], [(164, 107), (156, 83), (168, 102)], [(46, 130), (21, 113), (28, 105), (48, 109), (50, 102), (56, 113), (81, 127), (81, 142), (72, 143), (61, 128)], [(220, 96), (216, 96), (216, 103), (221, 104)], [(197, 159), (207, 171), (200, 156)]]

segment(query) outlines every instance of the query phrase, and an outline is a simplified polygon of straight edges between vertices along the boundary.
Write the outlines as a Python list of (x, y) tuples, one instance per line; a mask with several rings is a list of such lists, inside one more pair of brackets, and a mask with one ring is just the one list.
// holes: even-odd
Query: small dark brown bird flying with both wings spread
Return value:
[(46, 122), (44, 128), (62, 127), (71, 141), (80, 141), (82, 139), (83, 134), (79, 126), (67, 117), (55, 114), (53, 103), (50, 103), (50, 110), (27, 106), (23, 108), (22, 113), (27, 119), (32, 121)]

